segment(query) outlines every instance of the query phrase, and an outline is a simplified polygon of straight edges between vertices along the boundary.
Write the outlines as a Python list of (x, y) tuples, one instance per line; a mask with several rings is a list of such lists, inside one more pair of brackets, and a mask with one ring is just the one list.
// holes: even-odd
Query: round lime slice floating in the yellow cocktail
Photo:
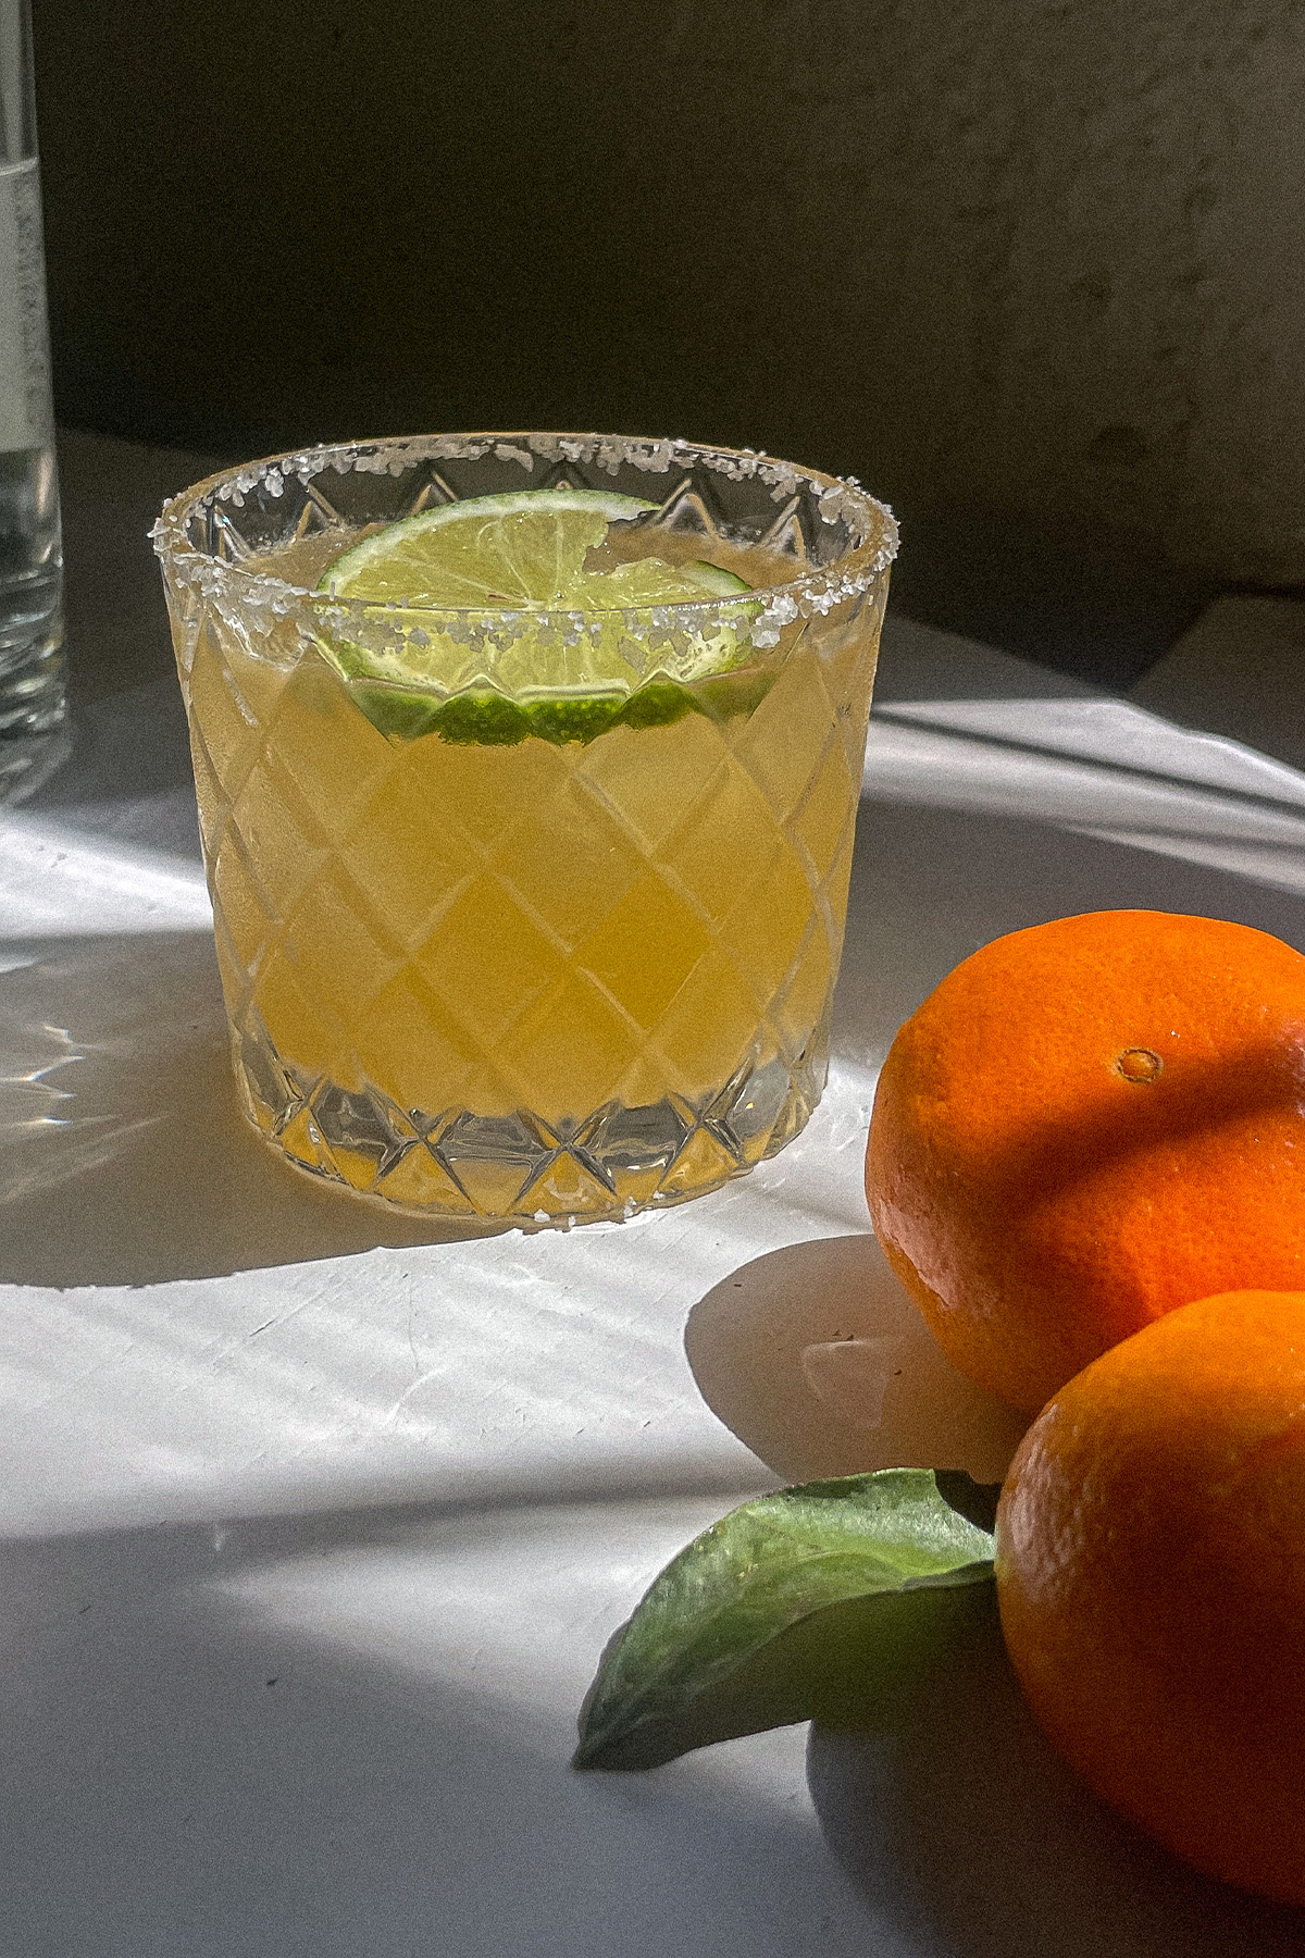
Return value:
[[(655, 507), (597, 490), (524, 490), (444, 503), (385, 525), (342, 552), (317, 589), (364, 605), (401, 605), (415, 630), (366, 648), (323, 640), (323, 652), (362, 713), (397, 740), (440, 734), (499, 746), (536, 734), (587, 742), (616, 723), (657, 726), (687, 713), (747, 713), (769, 676), (736, 672), (751, 648), (740, 642), (736, 623), (710, 611), (687, 660), (681, 648), (677, 677), (640, 679), (630, 668), (624, 613), (751, 589), (704, 560), (673, 566), (655, 556), (622, 562), (603, 552), (614, 523)], [(454, 644), (436, 619), (425, 630), (423, 611), (515, 615), (511, 695), (485, 685), (450, 689), (450, 670), (466, 658), (466, 644)], [(530, 613), (558, 611), (591, 617), (579, 632), (552, 625), (530, 630)]]

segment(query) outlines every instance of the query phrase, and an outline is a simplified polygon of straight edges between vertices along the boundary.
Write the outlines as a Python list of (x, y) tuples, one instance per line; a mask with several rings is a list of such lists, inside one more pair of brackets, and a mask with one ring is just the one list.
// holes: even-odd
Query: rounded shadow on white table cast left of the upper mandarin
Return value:
[(740, 1265), (689, 1314), (710, 1410), (787, 1482), (965, 1468), (1000, 1482), (1027, 1418), (943, 1357), (867, 1234)]

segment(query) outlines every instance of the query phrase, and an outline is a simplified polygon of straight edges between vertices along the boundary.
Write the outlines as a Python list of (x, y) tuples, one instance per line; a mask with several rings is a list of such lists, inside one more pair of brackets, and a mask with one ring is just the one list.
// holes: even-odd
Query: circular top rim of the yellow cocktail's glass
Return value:
[[(348, 458), (348, 468), (337, 468), (337, 474), (348, 474), (362, 460), (368, 464), (366, 474), (382, 476), (401, 474), (409, 464), (479, 460), (489, 452), (499, 460), (515, 458), (530, 466), (534, 466), (534, 460), (597, 462), (599, 468), (612, 476), (622, 462), (646, 472), (663, 472), (677, 462), (685, 466), (698, 462), (706, 468), (722, 464), (720, 474), (728, 480), (761, 478), (761, 482), (769, 484), (777, 503), (777, 517), (781, 503), (790, 501), (800, 490), (812, 491), (822, 517), (826, 521), (841, 519), (853, 531), (853, 536), (859, 533), (859, 540), (830, 564), (802, 572), (798, 578), (785, 580), (783, 583), (757, 585), (751, 591), (720, 597), (675, 599), (638, 607), (585, 607), (577, 611), (575, 607), (550, 609), (526, 605), (417, 607), (399, 599), (350, 599), (333, 591), (295, 585), (266, 568), (248, 570), (239, 558), (223, 558), (211, 550), (202, 550), (188, 535), (194, 513), (205, 503), (231, 503), (239, 509), (247, 495), (258, 488), (266, 488), (274, 497), (280, 497), (288, 482), (293, 480), (307, 488), (315, 476), (325, 474), (344, 458)], [(667, 625), (673, 619), (693, 625), (702, 619), (730, 617), (742, 605), (747, 605), (749, 613), (755, 613), (759, 601), (775, 617), (775, 623), (787, 623), (798, 613), (808, 617), (828, 615), (833, 605), (859, 597), (878, 583), (898, 550), (898, 525), (892, 509), (871, 495), (855, 476), (830, 476), (824, 470), (783, 462), (755, 448), (726, 448), (689, 443), (679, 437), (653, 439), (542, 431), (393, 435), (284, 450), (254, 462), (215, 470), (213, 476), (205, 476), (202, 482), (178, 491), (162, 505), (149, 536), (164, 574), (180, 576), (184, 582), (198, 580), (213, 595), (217, 595), (215, 587), (225, 587), (235, 603), (241, 597), (254, 603), (262, 597), (274, 599), (278, 609), (307, 605), (313, 613), (329, 613), (333, 621), (340, 621), (342, 617), (366, 617), (368, 621), (389, 617), (395, 623), (413, 627), (421, 619), (448, 619), (462, 627), (481, 627), (483, 630), (493, 630), (495, 625), (509, 621), (528, 621), (532, 629), (546, 629), (554, 621), (560, 627), (575, 627), (579, 621), (599, 617), (624, 615), (628, 619), (646, 619), (650, 613)]]

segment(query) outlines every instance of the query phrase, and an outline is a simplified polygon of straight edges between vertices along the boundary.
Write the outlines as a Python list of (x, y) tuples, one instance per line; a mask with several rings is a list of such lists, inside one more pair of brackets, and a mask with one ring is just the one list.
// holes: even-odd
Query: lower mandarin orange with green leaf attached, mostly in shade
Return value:
[(1019, 1682), (1186, 1862), (1305, 1903), (1305, 1294), (1166, 1314), (1068, 1382), (998, 1506)]

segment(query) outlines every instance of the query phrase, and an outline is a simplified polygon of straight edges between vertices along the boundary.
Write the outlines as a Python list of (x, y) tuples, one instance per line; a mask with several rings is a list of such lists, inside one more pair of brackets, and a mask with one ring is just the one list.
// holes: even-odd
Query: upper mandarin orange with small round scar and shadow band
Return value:
[(1154, 910), (994, 940), (898, 1032), (867, 1194), (953, 1365), (1029, 1412), (1174, 1306), (1305, 1288), (1305, 957)]

